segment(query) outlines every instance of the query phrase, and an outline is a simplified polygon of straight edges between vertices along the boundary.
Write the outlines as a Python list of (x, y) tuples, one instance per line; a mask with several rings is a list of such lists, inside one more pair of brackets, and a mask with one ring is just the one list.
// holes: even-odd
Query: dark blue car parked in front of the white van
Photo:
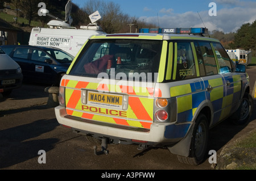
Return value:
[(0, 47), (19, 64), (24, 81), (27, 82), (59, 86), (61, 77), (75, 58), (54, 47), (31, 45), (3, 45)]

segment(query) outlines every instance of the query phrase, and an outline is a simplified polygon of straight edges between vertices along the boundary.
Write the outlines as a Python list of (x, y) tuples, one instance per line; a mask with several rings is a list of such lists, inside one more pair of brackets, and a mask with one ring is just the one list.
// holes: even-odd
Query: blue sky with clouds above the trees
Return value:
[[(244, 23), (256, 20), (256, 0), (100, 0), (114, 2), (124, 14), (135, 16), (161, 28), (204, 27), (210, 31), (236, 32)], [(80, 8), (85, 0), (72, 0)], [(209, 3), (216, 4), (216, 16), (210, 16)], [(204, 24), (198, 15), (200, 14)], [(213, 11), (212, 11), (213, 12)]]

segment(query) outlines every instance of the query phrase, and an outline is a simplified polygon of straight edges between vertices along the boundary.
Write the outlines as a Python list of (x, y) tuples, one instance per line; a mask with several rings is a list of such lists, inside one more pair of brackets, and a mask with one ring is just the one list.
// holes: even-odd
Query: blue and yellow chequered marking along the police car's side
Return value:
[[(213, 124), (225, 119), (240, 99), (241, 79), (246, 79), (241, 76), (243, 75), (229, 76), (228, 74), (226, 77), (171, 87), (170, 95), (177, 99), (177, 123), (192, 121), (197, 108), (205, 100), (212, 103)], [(230, 82), (230, 84), (226, 85), (226, 82)], [(205, 91), (209, 85), (213, 89)]]

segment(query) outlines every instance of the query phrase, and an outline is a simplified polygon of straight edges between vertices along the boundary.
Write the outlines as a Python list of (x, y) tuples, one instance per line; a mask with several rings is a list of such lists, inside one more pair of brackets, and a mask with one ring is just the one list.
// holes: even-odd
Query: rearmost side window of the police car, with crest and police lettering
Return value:
[(190, 42), (175, 43), (174, 80), (196, 77), (196, 66)]

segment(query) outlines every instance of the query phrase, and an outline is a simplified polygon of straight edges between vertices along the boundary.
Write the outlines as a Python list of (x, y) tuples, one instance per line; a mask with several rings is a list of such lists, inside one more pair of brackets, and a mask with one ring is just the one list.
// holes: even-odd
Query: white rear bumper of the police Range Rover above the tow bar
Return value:
[[(61, 106), (55, 108), (55, 115), (59, 124), (71, 127), (73, 131), (77, 133), (93, 134), (114, 139), (115, 141), (119, 139), (119, 142), (121, 142), (121, 140), (125, 140), (126, 142), (140, 140), (146, 141), (147, 145), (171, 146), (179, 142), (187, 133), (187, 131), (184, 132), (181, 129), (184, 133), (179, 134), (179, 125), (175, 125), (174, 123), (153, 123), (151, 124), (150, 129), (142, 129), (112, 125), (101, 121), (81, 119), (80, 117), (67, 115), (65, 108)], [(190, 124), (188, 124), (188, 128), (189, 126)], [(174, 130), (170, 128), (178, 129)], [(168, 132), (170, 132), (170, 134)]]

